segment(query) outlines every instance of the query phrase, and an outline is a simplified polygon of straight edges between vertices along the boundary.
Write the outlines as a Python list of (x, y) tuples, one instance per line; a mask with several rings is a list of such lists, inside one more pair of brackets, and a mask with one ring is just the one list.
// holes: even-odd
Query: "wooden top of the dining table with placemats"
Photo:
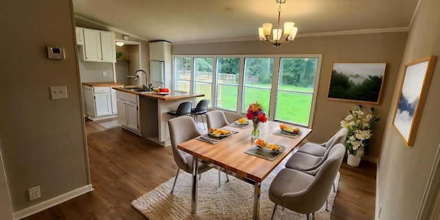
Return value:
[(302, 142), (311, 129), (301, 128), (302, 133), (296, 138), (283, 137), (274, 135), (275, 131), (280, 129), (279, 122), (267, 121), (260, 123), (260, 138), (266, 142), (282, 144), (286, 147), (285, 151), (278, 155), (274, 161), (256, 157), (245, 153), (251, 147), (254, 147), (254, 140), (250, 135), (252, 126), (246, 129), (240, 129), (233, 126), (226, 126), (225, 129), (238, 131), (228, 140), (224, 140), (217, 144), (209, 144), (199, 140), (188, 140), (187, 142), (177, 145), (181, 151), (195, 155), (212, 164), (216, 164), (234, 173), (237, 173), (256, 182), (263, 181), (283, 159), (294, 150), (300, 142)]

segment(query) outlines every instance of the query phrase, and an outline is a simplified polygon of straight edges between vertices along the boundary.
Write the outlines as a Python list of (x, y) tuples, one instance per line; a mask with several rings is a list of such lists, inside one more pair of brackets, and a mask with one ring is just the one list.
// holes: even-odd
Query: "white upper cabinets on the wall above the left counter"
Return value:
[[(115, 33), (81, 28), (83, 33), (82, 58), (83, 61), (91, 62), (116, 62)], [(78, 41), (78, 32), (76, 29), (76, 42)], [(80, 34), (79, 34), (80, 35)], [(80, 45), (81, 46), (81, 45)]]

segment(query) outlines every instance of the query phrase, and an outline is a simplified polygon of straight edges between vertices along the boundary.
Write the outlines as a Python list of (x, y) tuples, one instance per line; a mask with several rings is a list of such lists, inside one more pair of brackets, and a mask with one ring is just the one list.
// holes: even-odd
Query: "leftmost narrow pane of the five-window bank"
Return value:
[(175, 57), (174, 58), (175, 85), (174, 89), (179, 91), (191, 91), (191, 58)]

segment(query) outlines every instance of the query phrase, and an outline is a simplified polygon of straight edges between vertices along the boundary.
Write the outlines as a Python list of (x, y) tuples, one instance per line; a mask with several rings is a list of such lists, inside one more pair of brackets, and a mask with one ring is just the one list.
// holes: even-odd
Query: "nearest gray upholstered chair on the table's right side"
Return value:
[(327, 201), (333, 181), (338, 175), (338, 170), (344, 158), (345, 147), (336, 144), (331, 148), (329, 157), (322, 164), (316, 175), (309, 175), (299, 170), (283, 168), (269, 188), (269, 199), (275, 203), (272, 219), (276, 206), (288, 208), (294, 212), (310, 215), (315, 219), (315, 214)]

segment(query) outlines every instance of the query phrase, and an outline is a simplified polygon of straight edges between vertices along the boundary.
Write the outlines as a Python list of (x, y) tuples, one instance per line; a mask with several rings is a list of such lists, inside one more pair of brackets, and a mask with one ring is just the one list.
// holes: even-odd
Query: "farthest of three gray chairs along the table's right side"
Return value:
[(347, 137), (347, 129), (341, 128), (331, 137), (327, 142), (322, 144), (306, 143), (298, 149), (298, 152), (308, 153), (318, 157), (323, 157), (325, 153), (329, 151), (329, 148), (335, 144), (344, 144), (345, 137)]

